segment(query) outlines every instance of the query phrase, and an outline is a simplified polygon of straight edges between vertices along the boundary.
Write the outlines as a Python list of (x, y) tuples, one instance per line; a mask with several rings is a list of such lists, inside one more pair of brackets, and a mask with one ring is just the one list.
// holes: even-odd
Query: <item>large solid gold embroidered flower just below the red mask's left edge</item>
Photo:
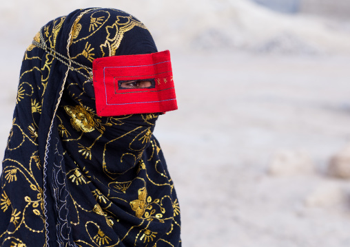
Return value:
[(65, 106), (64, 109), (72, 117), (70, 123), (77, 131), (88, 133), (95, 129), (94, 118), (81, 105), (76, 105), (76, 107)]

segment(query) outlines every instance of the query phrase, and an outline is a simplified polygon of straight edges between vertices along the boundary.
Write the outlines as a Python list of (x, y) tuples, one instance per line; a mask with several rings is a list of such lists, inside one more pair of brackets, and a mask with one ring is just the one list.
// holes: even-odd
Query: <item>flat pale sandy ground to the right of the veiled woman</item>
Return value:
[[(179, 110), (156, 136), (181, 198), (184, 246), (349, 246), (350, 207), (336, 196), (349, 197), (349, 182), (324, 175), (350, 138), (349, 62), (174, 56)], [(280, 149), (304, 151), (316, 172), (268, 175)]]

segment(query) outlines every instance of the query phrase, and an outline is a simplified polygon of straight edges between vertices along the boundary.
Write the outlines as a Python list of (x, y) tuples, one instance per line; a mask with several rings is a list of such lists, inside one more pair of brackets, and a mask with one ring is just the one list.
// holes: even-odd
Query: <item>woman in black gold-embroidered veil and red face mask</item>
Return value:
[(181, 246), (158, 141), (168, 52), (120, 10), (50, 21), (23, 58), (3, 160), (1, 246)]

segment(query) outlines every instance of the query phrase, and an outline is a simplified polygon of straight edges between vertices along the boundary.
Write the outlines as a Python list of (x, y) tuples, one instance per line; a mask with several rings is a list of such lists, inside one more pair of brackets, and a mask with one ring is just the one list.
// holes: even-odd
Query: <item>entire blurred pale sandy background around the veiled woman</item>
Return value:
[(184, 247), (350, 246), (350, 1), (4, 1), (1, 153), (25, 48), (88, 7), (130, 12), (172, 52), (179, 109), (155, 136)]

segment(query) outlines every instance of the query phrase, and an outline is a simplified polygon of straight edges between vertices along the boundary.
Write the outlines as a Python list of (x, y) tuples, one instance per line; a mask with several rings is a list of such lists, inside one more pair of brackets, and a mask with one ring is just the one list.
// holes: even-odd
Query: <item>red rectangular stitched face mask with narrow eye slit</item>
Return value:
[(168, 50), (96, 58), (92, 72), (98, 116), (178, 109)]

